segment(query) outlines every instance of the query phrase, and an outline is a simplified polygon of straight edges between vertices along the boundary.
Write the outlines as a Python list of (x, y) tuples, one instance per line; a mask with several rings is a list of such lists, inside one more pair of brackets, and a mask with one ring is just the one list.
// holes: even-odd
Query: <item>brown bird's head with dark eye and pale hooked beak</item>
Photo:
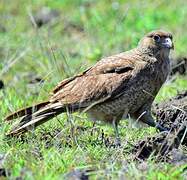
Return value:
[(163, 30), (156, 30), (145, 35), (139, 42), (138, 47), (153, 53), (168, 54), (174, 49), (172, 34)]

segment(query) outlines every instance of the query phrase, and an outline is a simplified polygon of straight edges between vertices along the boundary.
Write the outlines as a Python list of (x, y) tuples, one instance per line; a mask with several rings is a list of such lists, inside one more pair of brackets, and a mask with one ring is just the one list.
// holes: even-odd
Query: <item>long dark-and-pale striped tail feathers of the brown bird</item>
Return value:
[(6, 120), (11, 120), (21, 117), (19, 124), (14, 127), (7, 136), (18, 136), (26, 131), (34, 129), (58, 114), (66, 112), (67, 108), (67, 106), (62, 105), (60, 102), (43, 102), (17, 111), (5, 118)]

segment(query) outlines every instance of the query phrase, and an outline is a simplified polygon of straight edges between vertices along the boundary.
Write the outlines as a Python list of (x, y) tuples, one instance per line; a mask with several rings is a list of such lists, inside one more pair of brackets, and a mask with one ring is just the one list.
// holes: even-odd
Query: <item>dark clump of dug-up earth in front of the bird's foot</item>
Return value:
[(153, 114), (158, 123), (169, 131), (136, 142), (133, 147), (135, 159), (154, 157), (157, 161), (187, 163), (187, 155), (182, 150), (183, 146), (187, 146), (187, 91), (155, 104)]

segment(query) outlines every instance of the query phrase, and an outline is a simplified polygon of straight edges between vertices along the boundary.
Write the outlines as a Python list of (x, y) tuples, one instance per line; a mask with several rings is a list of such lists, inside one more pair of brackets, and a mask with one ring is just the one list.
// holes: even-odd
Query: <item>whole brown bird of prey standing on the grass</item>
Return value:
[(154, 121), (151, 105), (169, 74), (173, 48), (170, 33), (148, 33), (136, 48), (103, 58), (82, 74), (60, 82), (46, 102), (7, 116), (6, 120), (21, 117), (8, 135), (26, 132), (67, 110), (86, 112), (94, 121), (111, 123), (117, 137), (117, 125), (127, 115), (165, 130)]

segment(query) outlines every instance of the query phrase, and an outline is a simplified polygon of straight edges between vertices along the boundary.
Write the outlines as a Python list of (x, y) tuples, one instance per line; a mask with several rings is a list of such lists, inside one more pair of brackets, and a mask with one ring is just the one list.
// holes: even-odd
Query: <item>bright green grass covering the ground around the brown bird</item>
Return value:
[[(61, 16), (37, 29), (30, 17), (43, 6), (57, 9)], [(57, 82), (101, 57), (135, 47), (140, 37), (153, 29), (171, 31), (173, 56), (185, 56), (185, 1), (2, 0), (0, 15), (0, 25), (6, 28), (0, 32), (0, 79), (5, 83), (0, 91), (0, 155), (6, 157), (0, 165), (10, 171), (10, 179), (60, 179), (79, 168), (95, 169), (93, 179), (183, 179), (183, 166), (148, 161), (146, 170), (141, 170), (131, 161), (129, 143), (154, 134), (153, 128), (129, 129), (123, 121), (120, 134), (128, 143), (114, 149), (102, 143), (102, 131), (114, 140), (112, 128), (96, 125), (92, 132), (92, 123), (84, 115), (64, 114), (24, 139), (6, 139), (10, 125), (3, 118), (10, 111), (45, 100)], [(31, 85), (31, 76), (45, 81)], [(156, 100), (172, 97), (186, 85), (186, 77), (177, 76), (165, 84)], [(54, 130), (59, 131), (56, 136)]]

